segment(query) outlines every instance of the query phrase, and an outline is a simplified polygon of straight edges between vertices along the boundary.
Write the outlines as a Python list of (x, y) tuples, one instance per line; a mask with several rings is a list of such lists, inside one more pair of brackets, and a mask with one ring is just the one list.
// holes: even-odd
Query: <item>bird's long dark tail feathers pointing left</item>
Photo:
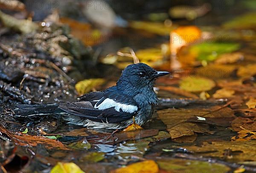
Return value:
[(37, 117), (49, 114), (64, 113), (58, 105), (17, 105), (14, 108), (16, 118)]

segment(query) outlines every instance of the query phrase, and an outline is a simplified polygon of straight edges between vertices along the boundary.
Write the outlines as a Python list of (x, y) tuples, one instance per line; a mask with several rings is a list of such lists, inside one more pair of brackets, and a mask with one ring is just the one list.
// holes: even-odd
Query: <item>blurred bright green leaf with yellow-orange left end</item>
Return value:
[(200, 61), (214, 61), (224, 53), (238, 50), (240, 47), (237, 43), (202, 43), (193, 45), (189, 51), (193, 52)]

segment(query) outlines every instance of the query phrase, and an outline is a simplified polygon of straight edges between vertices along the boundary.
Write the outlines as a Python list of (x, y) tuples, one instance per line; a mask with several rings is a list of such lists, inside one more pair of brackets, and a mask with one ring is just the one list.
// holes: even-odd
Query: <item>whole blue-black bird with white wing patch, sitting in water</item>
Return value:
[(15, 116), (31, 117), (59, 113), (68, 123), (91, 129), (122, 129), (133, 123), (144, 125), (151, 118), (158, 98), (153, 87), (157, 77), (169, 74), (137, 63), (128, 65), (116, 86), (90, 92), (78, 102), (61, 105), (18, 105)]

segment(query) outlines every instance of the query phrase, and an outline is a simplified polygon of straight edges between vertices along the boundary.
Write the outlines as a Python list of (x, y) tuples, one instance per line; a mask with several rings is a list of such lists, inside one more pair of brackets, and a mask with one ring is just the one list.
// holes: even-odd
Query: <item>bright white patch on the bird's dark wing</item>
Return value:
[(112, 108), (112, 107), (114, 107), (117, 112), (120, 112), (120, 109), (122, 109), (122, 111), (127, 112), (127, 113), (134, 113), (135, 111), (138, 110), (137, 106), (126, 105), (123, 103), (115, 102), (114, 100), (109, 99), (109, 98), (105, 99), (98, 106), (96, 106), (96, 105), (94, 105), (94, 108), (99, 109), (99, 110), (104, 110), (104, 109), (108, 109), (108, 108)]

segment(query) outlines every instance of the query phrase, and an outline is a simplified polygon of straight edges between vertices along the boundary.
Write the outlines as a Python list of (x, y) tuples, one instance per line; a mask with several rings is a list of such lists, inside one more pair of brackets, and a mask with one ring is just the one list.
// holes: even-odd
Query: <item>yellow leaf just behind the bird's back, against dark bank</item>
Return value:
[(102, 85), (105, 82), (105, 79), (85, 79), (78, 82), (75, 85), (76, 91), (79, 95), (86, 94), (93, 90), (93, 88)]

